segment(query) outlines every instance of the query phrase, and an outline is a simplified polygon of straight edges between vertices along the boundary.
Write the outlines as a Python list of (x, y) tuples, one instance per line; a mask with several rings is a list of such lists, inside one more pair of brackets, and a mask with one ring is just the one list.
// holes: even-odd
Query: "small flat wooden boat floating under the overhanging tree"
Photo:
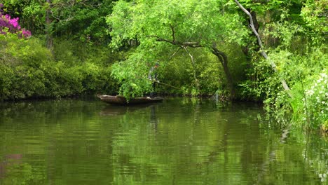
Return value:
[(135, 97), (130, 99), (129, 101), (125, 99), (123, 96), (111, 96), (111, 95), (98, 95), (103, 102), (107, 102), (109, 104), (147, 104), (153, 102), (162, 102), (163, 97)]

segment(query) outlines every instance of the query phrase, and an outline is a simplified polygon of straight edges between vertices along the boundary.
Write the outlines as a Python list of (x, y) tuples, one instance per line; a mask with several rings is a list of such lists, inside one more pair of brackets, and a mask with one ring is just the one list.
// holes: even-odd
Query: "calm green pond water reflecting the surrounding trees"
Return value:
[(256, 104), (0, 104), (0, 184), (328, 184), (328, 139)]

